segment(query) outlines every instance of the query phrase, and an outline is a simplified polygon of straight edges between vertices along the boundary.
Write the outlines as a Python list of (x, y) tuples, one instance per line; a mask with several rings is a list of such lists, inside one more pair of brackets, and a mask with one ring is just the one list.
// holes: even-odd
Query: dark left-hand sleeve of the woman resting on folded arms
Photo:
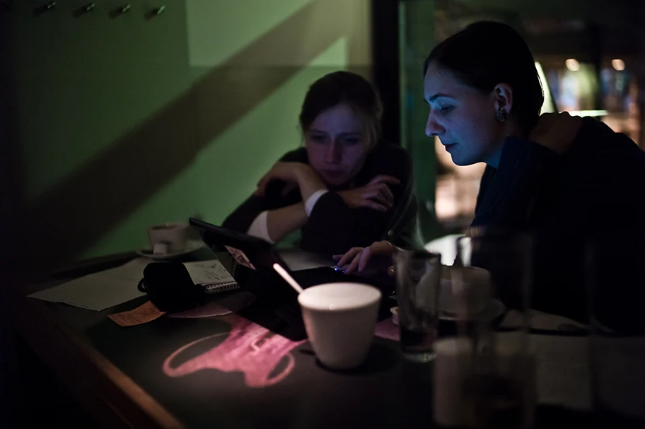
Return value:
[[(286, 153), (280, 158), (283, 162), (306, 162), (306, 156), (303, 158), (304, 149), (297, 149)], [(279, 180), (271, 182), (267, 187), (265, 196), (251, 195), (244, 201), (233, 213), (224, 219), (222, 226), (240, 233), (246, 233), (250, 228), (257, 215), (267, 210), (275, 210), (286, 206), (291, 206), (302, 201), (298, 189), (289, 192), (288, 195), (281, 195), (282, 189), (286, 184)]]

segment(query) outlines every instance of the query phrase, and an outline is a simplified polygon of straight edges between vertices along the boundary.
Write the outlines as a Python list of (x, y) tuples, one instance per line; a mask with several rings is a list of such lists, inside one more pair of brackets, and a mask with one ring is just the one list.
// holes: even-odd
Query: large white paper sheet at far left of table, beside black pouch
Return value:
[(117, 268), (79, 277), (28, 296), (44, 301), (63, 302), (87, 310), (105, 310), (145, 295), (136, 286), (150, 262), (146, 258), (133, 259)]

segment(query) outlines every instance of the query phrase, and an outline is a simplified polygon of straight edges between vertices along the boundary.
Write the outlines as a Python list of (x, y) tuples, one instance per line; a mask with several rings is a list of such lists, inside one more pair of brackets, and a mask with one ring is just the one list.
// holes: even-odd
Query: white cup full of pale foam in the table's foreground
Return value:
[(349, 370), (364, 363), (379, 300), (380, 290), (361, 283), (327, 283), (298, 295), (307, 336), (323, 365)]

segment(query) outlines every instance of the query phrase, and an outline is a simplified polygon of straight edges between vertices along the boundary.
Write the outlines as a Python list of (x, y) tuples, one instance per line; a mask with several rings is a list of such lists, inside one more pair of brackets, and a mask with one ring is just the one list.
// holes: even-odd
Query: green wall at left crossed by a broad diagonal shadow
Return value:
[[(368, 0), (146, 1), (11, 12), (21, 259), (127, 252), (146, 228), (213, 223), (301, 137), (316, 78), (369, 77)], [(270, 4), (270, 5), (269, 5)]]

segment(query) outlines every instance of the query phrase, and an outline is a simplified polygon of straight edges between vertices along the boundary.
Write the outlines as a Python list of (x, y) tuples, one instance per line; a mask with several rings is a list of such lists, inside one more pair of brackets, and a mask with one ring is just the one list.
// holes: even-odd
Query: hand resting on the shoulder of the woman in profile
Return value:
[(581, 126), (582, 118), (571, 116), (569, 112), (543, 113), (528, 139), (562, 155), (576, 139)]

